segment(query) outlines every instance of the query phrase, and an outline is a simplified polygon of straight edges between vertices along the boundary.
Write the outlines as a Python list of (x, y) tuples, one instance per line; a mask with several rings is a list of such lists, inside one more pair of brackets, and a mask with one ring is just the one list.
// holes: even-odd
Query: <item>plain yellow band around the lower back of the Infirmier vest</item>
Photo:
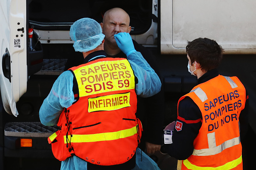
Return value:
[[(134, 134), (137, 134), (137, 126), (131, 127), (130, 129), (117, 131), (117, 132), (85, 134), (85, 135), (73, 134), (71, 139), (70, 139), (70, 135), (68, 136), (68, 138), (69, 138), (69, 141), (71, 140), (72, 143), (83, 143), (83, 142), (99, 142), (99, 141), (105, 141), (105, 140), (117, 140), (125, 137), (131, 137)], [(64, 137), (64, 142), (66, 143), (66, 136), (63, 136), (63, 137)]]

